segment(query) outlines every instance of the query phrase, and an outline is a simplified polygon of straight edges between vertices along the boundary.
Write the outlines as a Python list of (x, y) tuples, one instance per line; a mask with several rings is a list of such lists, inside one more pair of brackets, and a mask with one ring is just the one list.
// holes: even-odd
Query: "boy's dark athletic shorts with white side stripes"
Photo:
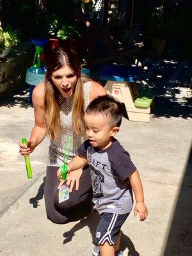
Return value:
[(103, 212), (100, 214), (100, 222), (97, 226), (95, 242), (97, 244), (104, 244), (108, 241), (110, 245), (116, 244), (120, 229), (129, 216), (129, 213), (115, 214)]

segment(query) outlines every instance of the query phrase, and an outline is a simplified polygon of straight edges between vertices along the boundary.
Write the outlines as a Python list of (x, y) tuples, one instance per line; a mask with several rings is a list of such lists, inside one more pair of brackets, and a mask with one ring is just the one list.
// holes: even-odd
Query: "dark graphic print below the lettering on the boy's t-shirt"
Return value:
[(90, 166), (90, 173), (92, 177), (93, 197), (99, 198), (101, 196), (104, 196), (102, 193), (102, 183), (104, 183), (104, 175), (99, 170), (95, 170), (93, 166)]

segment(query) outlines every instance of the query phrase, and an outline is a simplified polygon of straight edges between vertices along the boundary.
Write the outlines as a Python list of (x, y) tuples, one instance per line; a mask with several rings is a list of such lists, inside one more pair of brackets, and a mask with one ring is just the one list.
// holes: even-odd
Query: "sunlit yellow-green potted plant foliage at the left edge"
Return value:
[(12, 26), (8, 25), (5, 29), (0, 26), (0, 54), (5, 49), (16, 45), (19, 42), (20, 31), (14, 30)]

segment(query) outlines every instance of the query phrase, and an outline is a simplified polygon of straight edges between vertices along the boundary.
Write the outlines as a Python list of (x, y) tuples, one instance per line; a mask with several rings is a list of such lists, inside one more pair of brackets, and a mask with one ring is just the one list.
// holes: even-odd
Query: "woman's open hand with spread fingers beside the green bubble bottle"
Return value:
[(66, 182), (66, 184), (70, 187), (69, 192), (72, 192), (75, 183), (76, 183), (76, 190), (78, 190), (79, 189), (79, 180), (81, 178), (82, 173), (83, 173), (83, 168), (68, 173), (67, 174), (67, 182), (66, 182), (66, 180), (61, 180), (61, 172), (60, 172), (60, 168), (59, 168), (58, 172), (57, 172), (57, 177), (60, 180), (58, 189), (60, 189), (61, 186), (63, 185), (63, 183)]

